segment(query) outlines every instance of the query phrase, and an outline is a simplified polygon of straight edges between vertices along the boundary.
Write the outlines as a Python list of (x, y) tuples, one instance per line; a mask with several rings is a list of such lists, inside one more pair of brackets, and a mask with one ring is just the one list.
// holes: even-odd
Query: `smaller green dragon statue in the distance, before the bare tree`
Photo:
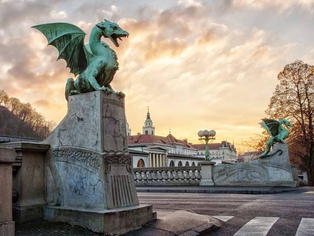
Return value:
[(267, 140), (266, 150), (259, 156), (260, 158), (266, 156), (270, 152), (270, 148), (274, 143), (286, 143), (284, 139), (289, 136), (289, 133), (282, 125), (284, 124), (287, 127), (292, 126), (292, 124), (286, 119), (280, 119), (278, 121), (273, 119), (262, 120), (263, 122), (260, 122), (259, 124), (267, 130), (267, 133), (271, 137)]

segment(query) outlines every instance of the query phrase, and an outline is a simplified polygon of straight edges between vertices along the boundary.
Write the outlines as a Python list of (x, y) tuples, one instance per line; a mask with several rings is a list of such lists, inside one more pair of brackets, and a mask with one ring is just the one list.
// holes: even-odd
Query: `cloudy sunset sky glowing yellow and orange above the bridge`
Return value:
[(127, 120), (141, 132), (149, 106), (155, 134), (199, 143), (198, 130), (241, 147), (262, 129), (277, 74), (314, 63), (314, 1), (0, 0), (0, 89), (48, 120), (66, 115), (70, 74), (31, 27), (69, 22), (90, 31), (104, 18), (129, 32), (112, 87), (126, 94)]

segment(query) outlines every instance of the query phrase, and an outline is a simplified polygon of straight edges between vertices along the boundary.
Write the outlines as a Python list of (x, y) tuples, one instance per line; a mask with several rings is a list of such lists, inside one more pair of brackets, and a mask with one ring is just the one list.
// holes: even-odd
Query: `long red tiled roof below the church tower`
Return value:
[(179, 143), (187, 148), (195, 147), (191, 143), (187, 143), (183, 140), (176, 139), (173, 135), (169, 134), (167, 137), (157, 136), (157, 135), (133, 135), (127, 136), (128, 144), (143, 144), (143, 143), (161, 143), (172, 145), (172, 143)]

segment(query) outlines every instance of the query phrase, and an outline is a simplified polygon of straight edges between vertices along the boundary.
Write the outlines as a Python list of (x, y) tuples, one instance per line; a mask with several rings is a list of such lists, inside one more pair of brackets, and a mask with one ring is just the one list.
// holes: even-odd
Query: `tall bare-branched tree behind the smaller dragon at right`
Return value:
[(299, 156), (306, 168), (308, 183), (314, 185), (314, 66), (295, 61), (278, 74), (279, 84), (270, 99), (266, 114), (287, 118), (294, 127), (290, 143), (301, 145)]

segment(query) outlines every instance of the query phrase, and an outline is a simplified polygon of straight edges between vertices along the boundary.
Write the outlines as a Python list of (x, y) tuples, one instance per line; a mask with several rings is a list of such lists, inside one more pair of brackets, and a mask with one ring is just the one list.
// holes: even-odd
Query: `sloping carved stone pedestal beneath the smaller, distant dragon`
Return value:
[(247, 163), (216, 165), (213, 180), (215, 186), (297, 186), (286, 144), (274, 144), (268, 155)]

